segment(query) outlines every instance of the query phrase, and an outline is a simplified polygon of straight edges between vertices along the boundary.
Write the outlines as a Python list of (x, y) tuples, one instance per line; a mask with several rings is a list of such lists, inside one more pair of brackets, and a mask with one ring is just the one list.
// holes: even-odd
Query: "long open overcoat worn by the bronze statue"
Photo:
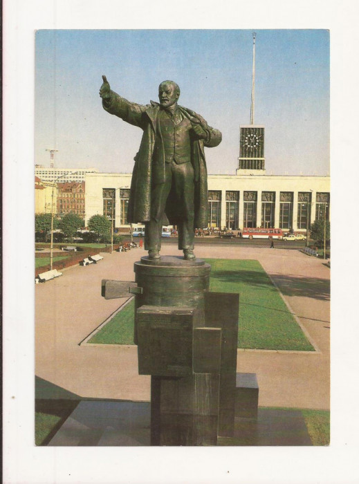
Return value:
[[(131, 192), (127, 220), (129, 223), (142, 223), (150, 220), (151, 216), (151, 186), (165, 181), (165, 153), (163, 149), (154, 157), (156, 133), (160, 134), (157, 121), (160, 105), (141, 105), (125, 100), (111, 91), (111, 98), (102, 102), (106, 111), (122, 118), (143, 129), (140, 149), (136, 154), (134, 172), (132, 174)], [(207, 140), (191, 140), (191, 162), (194, 167), (194, 225), (207, 227), (208, 225), (208, 188), (207, 167), (205, 165), (204, 147), (215, 147), (221, 142), (221, 132), (208, 126), (207, 122), (190, 109), (178, 106), (183, 115), (194, 124), (201, 124), (208, 133)], [(162, 137), (161, 137), (162, 138)], [(156, 150), (157, 151), (157, 150)], [(170, 205), (170, 204), (168, 204)], [(173, 204), (172, 204), (173, 205)], [(173, 206), (166, 207), (167, 220), (163, 225), (178, 223), (178, 217)]]

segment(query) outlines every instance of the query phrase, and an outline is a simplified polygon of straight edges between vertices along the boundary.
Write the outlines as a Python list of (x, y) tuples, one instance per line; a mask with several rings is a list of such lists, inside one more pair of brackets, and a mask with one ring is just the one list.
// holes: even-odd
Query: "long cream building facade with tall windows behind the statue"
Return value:
[[(85, 225), (100, 214), (120, 232), (129, 231), (130, 186), (131, 174), (86, 174)], [(329, 176), (268, 176), (262, 168), (256, 174), (248, 166), (235, 175), (208, 176), (208, 227), (276, 227), (305, 233), (313, 221), (324, 218), (330, 220)]]

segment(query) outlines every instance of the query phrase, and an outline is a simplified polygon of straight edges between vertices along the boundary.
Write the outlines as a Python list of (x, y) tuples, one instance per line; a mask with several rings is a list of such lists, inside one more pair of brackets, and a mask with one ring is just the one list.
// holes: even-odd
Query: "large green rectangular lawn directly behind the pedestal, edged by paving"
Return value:
[[(314, 351), (258, 261), (207, 259), (210, 290), (239, 293), (239, 348)], [(134, 344), (134, 301), (89, 343)]]

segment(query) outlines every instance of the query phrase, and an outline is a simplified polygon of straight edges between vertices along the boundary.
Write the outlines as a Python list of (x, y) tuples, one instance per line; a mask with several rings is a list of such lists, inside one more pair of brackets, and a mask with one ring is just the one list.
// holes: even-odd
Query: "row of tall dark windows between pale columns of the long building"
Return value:
[[(120, 225), (127, 224), (129, 189), (119, 189)], [(290, 230), (293, 227), (293, 192), (279, 193), (279, 227)], [(102, 189), (103, 214), (112, 223), (116, 219), (116, 189)], [(243, 227), (275, 227), (275, 192), (258, 193), (243, 191)], [(208, 190), (208, 226), (221, 228), (221, 190)], [(261, 203), (261, 220), (257, 221), (257, 203)], [(298, 192), (297, 228), (306, 230), (311, 225), (311, 192)], [(317, 192), (315, 200), (315, 220), (329, 220), (330, 194)], [(239, 229), (239, 191), (225, 192), (225, 225), (229, 230)], [(204, 227), (201, 227), (204, 228)]]

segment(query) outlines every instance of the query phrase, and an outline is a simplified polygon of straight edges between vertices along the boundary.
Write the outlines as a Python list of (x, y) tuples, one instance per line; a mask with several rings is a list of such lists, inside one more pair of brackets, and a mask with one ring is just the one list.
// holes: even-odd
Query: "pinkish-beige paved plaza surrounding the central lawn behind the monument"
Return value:
[[(197, 257), (257, 259), (280, 288), (319, 352), (238, 351), (237, 371), (257, 373), (259, 406), (329, 409), (329, 277), (323, 261), (296, 250), (198, 245)], [(177, 254), (165, 245), (163, 255)], [(79, 346), (126, 299), (101, 297), (102, 279), (134, 280), (146, 252), (103, 254), (35, 288), (37, 398), (148, 401), (136, 346)], [(66, 395), (66, 396), (65, 396)]]

